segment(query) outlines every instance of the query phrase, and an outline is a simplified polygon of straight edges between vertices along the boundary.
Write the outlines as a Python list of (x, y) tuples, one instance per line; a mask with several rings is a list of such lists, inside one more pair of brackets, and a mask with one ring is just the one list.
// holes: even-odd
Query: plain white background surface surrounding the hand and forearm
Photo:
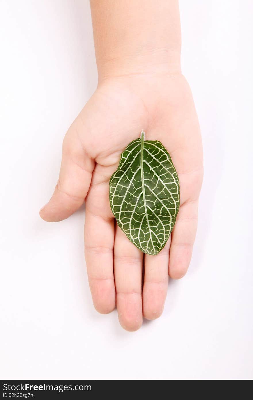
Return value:
[(92, 305), (84, 208), (38, 215), (62, 139), (96, 88), (88, 0), (2, 0), (0, 378), (253, 378), (253, 2), (181, 0), (182, 70), (205, 177), (189, 272), (133, 333)]

